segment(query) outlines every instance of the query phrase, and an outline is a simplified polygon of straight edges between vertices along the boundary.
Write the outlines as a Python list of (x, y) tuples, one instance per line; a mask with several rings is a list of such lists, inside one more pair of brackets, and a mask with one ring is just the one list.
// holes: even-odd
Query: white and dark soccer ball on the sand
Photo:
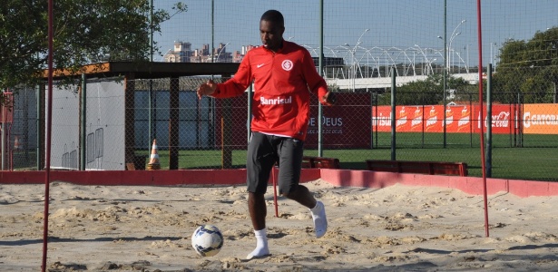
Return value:
[(200, 226), (191, 236), (191, 247), (202, 257), (214, 256), (223, 247), (223, 235), (215, 226)]

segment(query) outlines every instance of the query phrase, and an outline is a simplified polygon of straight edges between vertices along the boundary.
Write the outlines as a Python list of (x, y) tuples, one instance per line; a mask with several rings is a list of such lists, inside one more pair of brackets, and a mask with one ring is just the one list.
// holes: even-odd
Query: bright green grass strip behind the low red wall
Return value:
[[(168, 169), (168, 151), (159, 151), (162, 169)], [(306, 150), (305, 155), (317, 156), (318, 151)], [(370, 150), (325, 150), (324, 157), (338, 158), (342, 169), (366, 170), (365, 160), (390, 160), (388, 147)], [(488, 157), (486, 157), (488, 159)], [(558, 181), (558, 148), (494, 147), (492, 178), (511, 180)], [(396, 149), (396, 160), (461, 161), (467, 163), (469, 176), (482, 177), (481, 154), (478, 145), (441, 145), (401, 147)], [(246, 151), (232, 151), (232, 167), (244, 168)], [(181, 151), (180, 169), (221, 169), (220, 151)]]

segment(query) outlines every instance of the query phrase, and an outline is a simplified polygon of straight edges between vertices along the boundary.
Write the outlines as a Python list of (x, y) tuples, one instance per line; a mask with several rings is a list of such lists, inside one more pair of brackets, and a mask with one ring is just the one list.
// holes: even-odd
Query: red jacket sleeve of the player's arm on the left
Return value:
[(228, 98), (244, 93), (253, 81), (250, 70), (250, 58), (246, 55), (242, 59), (237, 73), (225, 83), (217, 84), (217, 89), (211, 96), (215, 98)]

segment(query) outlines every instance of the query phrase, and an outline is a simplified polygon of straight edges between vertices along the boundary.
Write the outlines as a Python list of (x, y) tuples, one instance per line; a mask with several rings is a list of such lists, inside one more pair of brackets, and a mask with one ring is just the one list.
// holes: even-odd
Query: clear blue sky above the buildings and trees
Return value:
[[(154, 5), (155, 8), (169, 9), (175, 2), (154, 0)], [(162, 24), (162, 34), (154, 35), (162, 53), (170, 49), (174, 41), (189, 42), (192, 49), (201, 48), (202, 44), (214, 44), (215, 47), (220, 43), (227, 44), (227, 52), (240, 51), (242, 45), (259, 45), (259, 17), (269, 9), (277, 9), (285, 17), (285, 39), (318, 52), (318, 0), (182, 2), (188, 5), (188, 12), (173, 16)], [(348, 57), (353, 50), (353, 57), (362, 60), (365, 54), (371, 55), (376, 50), (386, 53), (388, 48), (392, 48), (392, 55), (406, 53), (408, 58), (411, 53), (422, 51), (429, 54), (429, 61), (436, 58), (433, 62), (443, 63), (444, 57), (439, 54), (443, 52), (444, 39), (438, 36), (444, 37), (446, 21), (445, 45), (448, 51), (454, 52), (453, 59), (459, 63), (461, 58), (462, 64), (472, 66), (479, 63), (477, 1), (323, 2), (326, 56), (336, 54)], [(214, 5), (213, 12), (211, 3)], [(537, 31), (558, 26), (558, 0), (485, 0), (481, 1), (480, 7), (484, 66), (486, 63), (497, 63), (497, 50), (506, 40), (528, 40)], [(436, 51), (439, 52), (438, 57)], [(161, 58), (162, 55), (155, 56), (155, 60)]]

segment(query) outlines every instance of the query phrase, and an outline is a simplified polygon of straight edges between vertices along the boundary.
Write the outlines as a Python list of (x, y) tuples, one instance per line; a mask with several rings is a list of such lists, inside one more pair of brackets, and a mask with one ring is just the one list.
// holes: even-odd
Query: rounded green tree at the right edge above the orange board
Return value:
[[(500, 49), (493, 74), (498, 102), (553, 102), (558, 83), (558, 27), (537, 32), (529, 41), (510, 39)], [(496, 101), (496, 100), (494, 100)]]

